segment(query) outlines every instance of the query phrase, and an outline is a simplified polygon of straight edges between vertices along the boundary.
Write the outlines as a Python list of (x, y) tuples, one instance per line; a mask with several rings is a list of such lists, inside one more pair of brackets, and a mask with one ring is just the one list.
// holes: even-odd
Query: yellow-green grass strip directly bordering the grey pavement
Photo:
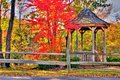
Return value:
[(120, 77), (119, 70), (17, 70), (0, 69), (0, 76), (90, 76), (90, 77)]

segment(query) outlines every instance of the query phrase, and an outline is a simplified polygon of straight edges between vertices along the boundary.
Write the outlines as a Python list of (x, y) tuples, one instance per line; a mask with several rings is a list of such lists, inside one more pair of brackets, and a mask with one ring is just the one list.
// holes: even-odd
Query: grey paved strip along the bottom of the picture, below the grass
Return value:
[(6, 77), (1, 76), (0, 80), (120, 80), (120, 78), (104, 77)]

